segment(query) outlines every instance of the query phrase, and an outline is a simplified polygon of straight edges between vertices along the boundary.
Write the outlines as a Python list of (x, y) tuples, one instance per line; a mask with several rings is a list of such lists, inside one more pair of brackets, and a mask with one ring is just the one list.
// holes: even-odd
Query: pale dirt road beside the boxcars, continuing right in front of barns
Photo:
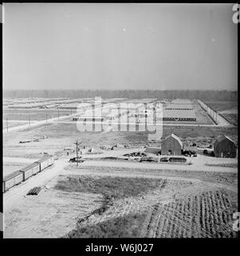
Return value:
[[(64, 170), (66, 166), (69, 165), (69, 158), (61, 158), (54, 162), (54, 166), (47, 168), (43, 172), (37, 174), (36, 176), (31, 177), (26, 182), (22, 182), (22, 184), (15, 186), (14, 188), (7, 191), (3, 194), (3, 206), (4, 210), (7, 210), (10, 206), (14, 205), (14, 202), (17, 202), (20, 198), (22, 198), (28, 190), (33, 188), (33, 186), (43, 186), (46, 182), (49, 182), (52, 178), (56, 177), (58, 174), (84, 174), (82, 169), (79, 171), (73, 170)], [(171, 164), (159, 164), (159, 163), (148, 163), (148, 162), (129, 162), (129, 161), (101, 161), (101, 160), (87, 160), (81, 163), (81, 166), (107, 166), (107, 167), (124, 167), (124, 168), (140, 168), (145, 169), (146, 174), (148, 175), (148, 170), (191, 170), (191, 171), (215, 171), (215, 172), (231, 172), (237, 173), (237, 168), (230, 167), (217, 167), (217, 166), (188, 166), (188, 165), (171, 165)], [(113, 169), (114, 170), (114, 169)], [(89, 170), (88, 170), (89, 172)], [(97, 172), (98, 174), (99, 172)], [(94, 174), (94, 170), (92, 170), (92, 174)], [(96, 174), (96, 172), (95, 172)], [(135, 177), (139, 175), (136, 171), (136, 174), (133, 174)], [(163, 177), (163, 176), (158, 176)], [(179, 178), (180, 174), (179, 174)], [(177, 178), (175, 178), (177, 179)], [(182, 179), (182, 178), (181, 178)], [(184, 179), (184, 178), (183, 178)]]

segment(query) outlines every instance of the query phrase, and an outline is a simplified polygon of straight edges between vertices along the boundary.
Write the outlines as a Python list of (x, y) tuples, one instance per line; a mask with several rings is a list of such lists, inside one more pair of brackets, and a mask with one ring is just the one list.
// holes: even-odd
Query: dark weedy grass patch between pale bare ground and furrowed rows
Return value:
[(166, 185), (165, 179), (151, 178), (122, 178), (89, 176), (69, 176), (58, 181), (55, 189), (69, 192), (103, 194), (104, 200), (100, 208), (92, 211), (77, 222), (77, 228), (65, 235), (65, 238), (134, 238), (140, 236), (140, 226), (146, 218), (146, 213), (129, 214), (124, 217), (112, 218), (96, 225), (82, 226), (82, 223), (95, 215), (101, 215), (112, 206), (113, 200), (136, 197), (149, 190)]

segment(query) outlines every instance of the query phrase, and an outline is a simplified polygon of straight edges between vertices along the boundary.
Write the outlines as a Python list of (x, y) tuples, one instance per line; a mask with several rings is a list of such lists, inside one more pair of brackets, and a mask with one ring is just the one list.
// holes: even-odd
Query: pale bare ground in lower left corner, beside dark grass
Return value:
[[(4, 238), (56, 238), (68, 233), (78, 218), (100, 207), (101, 195), (43, 188), (5, 212)], [(31, 206), (31, 207), (30, 207)]]

